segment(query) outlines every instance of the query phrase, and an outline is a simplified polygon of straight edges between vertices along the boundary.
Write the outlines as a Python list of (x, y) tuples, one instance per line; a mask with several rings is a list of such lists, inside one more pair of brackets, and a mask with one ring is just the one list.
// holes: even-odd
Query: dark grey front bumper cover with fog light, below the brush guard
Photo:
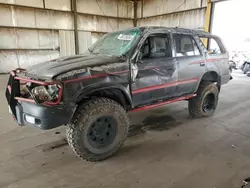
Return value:
[[(20, 101), (15, 106), (16, 121), (21, 126), (34, 126), (43, 130), (53, 129), (68, 124), (76, 109), (76, 105), (42, 106)], [(31, 123), (30, 118), (34, 119)]]

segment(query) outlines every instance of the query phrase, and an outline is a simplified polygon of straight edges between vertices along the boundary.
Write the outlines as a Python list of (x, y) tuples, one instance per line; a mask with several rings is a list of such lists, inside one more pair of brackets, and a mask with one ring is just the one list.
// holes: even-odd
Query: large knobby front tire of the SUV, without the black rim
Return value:
[[(117, 122), (114, 141), (108, 148), (93, 148), (87, 139), (88, 128), (100, 116), (112, 116)], [(66, 135), (69, 146), (80, 158), (86, 161), (101, 161), (111, 157), (123, 145), (129, 128), (125, 109), (117, 102), (107, 98), (91, 99), (76, 110), (71, 123), (67, 125)]]

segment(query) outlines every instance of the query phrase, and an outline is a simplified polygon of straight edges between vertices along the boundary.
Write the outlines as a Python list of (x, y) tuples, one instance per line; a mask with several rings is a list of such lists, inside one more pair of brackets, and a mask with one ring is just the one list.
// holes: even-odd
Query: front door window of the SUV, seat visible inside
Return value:
[(141, 47), (142, 58), (171, 57), (171, 46), (168, 35), (150, 35)]

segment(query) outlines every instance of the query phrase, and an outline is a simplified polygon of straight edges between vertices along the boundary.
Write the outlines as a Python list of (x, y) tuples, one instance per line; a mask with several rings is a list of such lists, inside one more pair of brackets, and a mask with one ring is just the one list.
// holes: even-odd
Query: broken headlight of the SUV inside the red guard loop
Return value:
[(54, 101), (58, 99), (59, 88), (56, 84), (37, 86), (31, 90), (31, 93), (38, 100), (38, 102)]

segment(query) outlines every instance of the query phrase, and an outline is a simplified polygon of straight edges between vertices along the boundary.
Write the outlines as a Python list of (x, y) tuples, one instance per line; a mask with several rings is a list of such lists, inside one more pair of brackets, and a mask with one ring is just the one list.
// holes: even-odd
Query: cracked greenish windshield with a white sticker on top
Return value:
[(141, 34), (140, 29), (130, 29), (104, 35), (89, 48), (91, 54), (122, 56), (135, 45)]

